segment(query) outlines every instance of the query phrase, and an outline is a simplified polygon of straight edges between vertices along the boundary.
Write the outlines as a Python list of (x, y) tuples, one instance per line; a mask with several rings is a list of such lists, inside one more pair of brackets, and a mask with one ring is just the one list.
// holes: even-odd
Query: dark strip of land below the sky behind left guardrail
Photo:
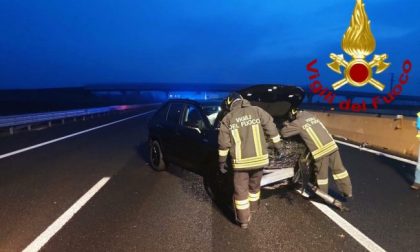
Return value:
[(0, 116), (156, 102), (153, 92), (94, 92), (84, 88), (0, 90)]

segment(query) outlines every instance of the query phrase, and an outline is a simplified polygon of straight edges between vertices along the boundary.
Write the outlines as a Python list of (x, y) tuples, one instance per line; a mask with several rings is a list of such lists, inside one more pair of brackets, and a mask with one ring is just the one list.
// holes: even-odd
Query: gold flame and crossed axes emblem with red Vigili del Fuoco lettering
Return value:
[[(382, 73), (389, 66), (390, 62), (386, 62), (388, 55), (375, 54), (369, 61), (367, 58), (375, 51), (376, 41), (370, 30), (370, 21), (368, 19), (364, 3), (362, 0), (356, 0), (353, 15), (350, 20), (350, 26), (344, 33), (341, 41), (341, 48), (351, 57), (346, 60), (343, 54), (331, 53), (331, 63), (327, 66), (342, 76), (341, 79), (331, 85), (333, 91), (324, 87), (318, 80), (320, 77), (319, 71), (315, 68), (317, 60), (312, 60), (306, 69), (311, 73), (309, 85), (311, 91), (323, 97), (329, 104), (333, 104), (337, 90), (345, 85), (362, 88), (365, 85), (372, 85), (379, 92), (382, 92), (385, 85), (374, 78), (375, 75)], [(399, 77), (398, 85), (396, 85), (388, 94), (379, 94), (372, 98), (371, 102), (362, 100), (361, 103), (351, 104), (350, 99), (339, 103), (341, 110), (352, 110), (354, 112), (366, 111), (367, 104), (371, 104), (372, 108), (378, 109), (380, 104), (390, 104), (403, 91), (403, 86), (408, 83), (408, 73), (411, 71), (412, 64), (410, 60), (405, 60), (402, 65), (402, 73)]]

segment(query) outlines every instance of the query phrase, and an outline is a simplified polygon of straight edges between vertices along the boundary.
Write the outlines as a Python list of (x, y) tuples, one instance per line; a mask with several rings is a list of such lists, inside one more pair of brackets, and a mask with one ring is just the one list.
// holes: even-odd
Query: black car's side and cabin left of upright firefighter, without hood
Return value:
[(217, 166), (217, 129), (205, 110), (215, 110), (220, 102), (170, 100), (149, 122), (150, 163), (164, 170), (169, 163), (203, 174)]

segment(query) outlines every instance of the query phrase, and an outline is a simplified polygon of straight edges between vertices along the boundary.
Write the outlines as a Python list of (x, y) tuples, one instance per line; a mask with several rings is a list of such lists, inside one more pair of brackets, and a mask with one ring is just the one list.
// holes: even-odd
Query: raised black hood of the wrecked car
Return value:
[(282, 118), (297, 108), (305, 98), (305, 91), (297, 86), (255, 85), (238, 91), (252, 105), (259, 106), (271, 116)]

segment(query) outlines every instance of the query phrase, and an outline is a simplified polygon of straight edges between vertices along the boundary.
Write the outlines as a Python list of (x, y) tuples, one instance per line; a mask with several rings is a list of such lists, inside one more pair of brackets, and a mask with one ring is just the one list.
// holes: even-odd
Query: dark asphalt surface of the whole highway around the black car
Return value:
[[(2, 137), (0, 155), (142, 112)], [(0, 251), (21, 251), (46, 230), (51, 238), (41, 251), (366, 250), (286, 188), (263, 191), (250, 228), (241, 230), (209, 199), (201, 176), (177, 166), (150, 168), (150, 115), (1, 158)], [(409, 189), (414, 167), (340, 148), (354, 199), (346, 203), (350, 212), (336, 212), (387, 251), (419, 251), (420, 192)], [(84, 205), (68, 221), (59, 219), (81, 198)], [(48, 229), (57, 222), (59, 228)]]

